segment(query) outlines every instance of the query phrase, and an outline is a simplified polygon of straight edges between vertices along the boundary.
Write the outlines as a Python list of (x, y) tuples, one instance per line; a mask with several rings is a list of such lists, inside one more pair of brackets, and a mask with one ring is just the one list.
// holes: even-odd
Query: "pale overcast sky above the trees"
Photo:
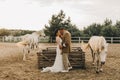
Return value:
[(41, 30), (60, 10), (79, 29), (120, 20), (120, 0), (0, 0), (0, 28)]

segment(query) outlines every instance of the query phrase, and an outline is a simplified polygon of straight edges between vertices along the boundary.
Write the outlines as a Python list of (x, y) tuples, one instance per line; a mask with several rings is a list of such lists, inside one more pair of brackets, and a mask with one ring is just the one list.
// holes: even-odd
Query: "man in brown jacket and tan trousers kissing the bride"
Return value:
[(68, 72), (69, 69), (72, 68), (68, 60), (68, 55), (71, 52), (71, 34), (64, 28), (60, 28), (60, 33), (62, 34), (62, 46), (60, 46), (60, 48), (62, 49), (63, 65), (65, 69), (62, 72)]

